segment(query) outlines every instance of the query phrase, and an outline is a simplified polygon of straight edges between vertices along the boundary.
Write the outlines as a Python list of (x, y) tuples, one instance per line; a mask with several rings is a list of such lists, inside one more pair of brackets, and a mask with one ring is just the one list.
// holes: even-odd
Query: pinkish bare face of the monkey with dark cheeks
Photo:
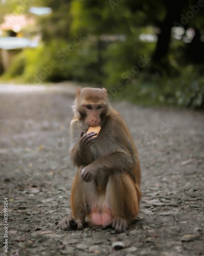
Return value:
[(90, 126), (101, 126), (104, 122), (106, 106), (104, 105), (83, 105), (80, 110), (80, 121), (89, 129)]

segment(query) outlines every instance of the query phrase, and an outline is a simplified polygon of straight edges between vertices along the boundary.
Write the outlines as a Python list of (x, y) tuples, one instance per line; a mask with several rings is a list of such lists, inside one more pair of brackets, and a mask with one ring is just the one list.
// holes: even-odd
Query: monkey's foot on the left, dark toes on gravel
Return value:
[(68, 231), (70, 229), (83, 229), (82, 221), (72, 216), (65, 216), (59, 223), (60, 229)]

